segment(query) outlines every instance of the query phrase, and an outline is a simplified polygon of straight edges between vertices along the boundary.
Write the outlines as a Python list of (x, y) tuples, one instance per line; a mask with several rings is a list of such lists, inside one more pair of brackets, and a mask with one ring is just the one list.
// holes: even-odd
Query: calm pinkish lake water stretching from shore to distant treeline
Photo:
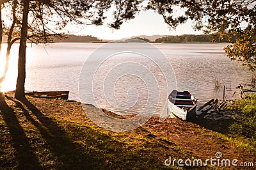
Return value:
[[(82, 102), (96, 102), (99, 107), (118, 113), (138, 113), (145, 105), (150, 105), (150, 109), (154, 111), (154, 98), (156, 101), (159, 99), (159, 104), (163, 105), (166, 92), (170, 93), (174, 88), (193, 93), (200, 100), (200, 105), (211, 98), (222, 98), (223, 89), (214, 89), (214, 79), (218, 79), (221, 86), (226, 86), (227, 98), (231, 99), (234, 91), (237, 91), (236, 86), (248, 81), (252, 73), (240, 63), (230, 61), (223, 51), (225, 46), (225, 43), (52, 43), (47, 46), (28, 43), (26, 90), (69, 90), (69, 99), (79, 101), (79, 91), (88, 92), (88, 86), (83, 86), (83, 82), (86, 84), (92, 81), (93, 96), (87, 96)], [(3, 45), (4, 49), (6, 45)], [(134, 49), (138, 51), (132, 52)], [(2, 91), (15, 89), (17, 50), (18, 44), (14, 44), (10, 69), (2, 84)], [(104, 56), (104, 51), (109, 50), (114, 55)], [(90, 58), (95, 52), (98, 54)], [(141, 54), (143, 52), (150, 57)], [(159, 52), (163, 52), (163, 58), (158, 56), (161, 55)], [(155, 62), (154, 59), (158, 60)], [(4, 51), (1, 52), (0, 61), (1, 75)], [(94, 68), (97, 68), (96, 72), (90, 72)], [(113, 68), (116, 69), (115, 72)], [(93, 73), (93, 80), (88, 80), (90, 76), (86, 76), (87, 72), (90, 76), (90, 73)], [(171, 83), (168, 88), (163, 77), (172, 79), (167, 80)], [(154, 90), (156, 84), (157, 89), (163, 89), (161, 92)], [(83, 95), (80, 94), (80, 97)], [(237, 95), (234, 98), (237, 98)]]

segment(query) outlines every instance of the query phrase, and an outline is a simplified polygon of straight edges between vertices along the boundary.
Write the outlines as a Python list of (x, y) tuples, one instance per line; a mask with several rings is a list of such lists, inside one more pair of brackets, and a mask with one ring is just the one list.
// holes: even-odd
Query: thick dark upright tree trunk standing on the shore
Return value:
[(25, 79), (26, 79), (26, 42), (28, 38), (28, 13), (29, 0), (23, 0), (23, 15), (20, 34), (18, 78), (16, 84), (15, 97), (18, 100), (25, 98)]

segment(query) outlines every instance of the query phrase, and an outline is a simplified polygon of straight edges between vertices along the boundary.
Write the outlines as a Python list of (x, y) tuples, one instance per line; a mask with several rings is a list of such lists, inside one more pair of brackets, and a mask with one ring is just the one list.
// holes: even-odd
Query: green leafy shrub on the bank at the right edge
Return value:
[(228, 105), (228, 111), (236, 114), (236, 121), (230, 126), (230, 132), (256, 138), (256, 95), (248, 95)]

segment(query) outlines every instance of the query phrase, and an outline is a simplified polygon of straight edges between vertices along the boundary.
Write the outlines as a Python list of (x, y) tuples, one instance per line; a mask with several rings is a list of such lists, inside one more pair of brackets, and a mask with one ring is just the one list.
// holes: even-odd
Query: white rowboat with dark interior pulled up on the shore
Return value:
[(196, 118), (197, 100), (188, 91), (173, 90), (168, 97), (168, 112), (182, 120)]

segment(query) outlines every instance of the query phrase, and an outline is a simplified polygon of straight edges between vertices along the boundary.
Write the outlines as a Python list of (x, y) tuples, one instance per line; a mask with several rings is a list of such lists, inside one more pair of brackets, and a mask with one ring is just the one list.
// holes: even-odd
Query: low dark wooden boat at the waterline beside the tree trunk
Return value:
[(69, 91), (29, 91), (26, 95), (33, 97), (45, 97), (45, 98), (61, 98), (68, 100)]

